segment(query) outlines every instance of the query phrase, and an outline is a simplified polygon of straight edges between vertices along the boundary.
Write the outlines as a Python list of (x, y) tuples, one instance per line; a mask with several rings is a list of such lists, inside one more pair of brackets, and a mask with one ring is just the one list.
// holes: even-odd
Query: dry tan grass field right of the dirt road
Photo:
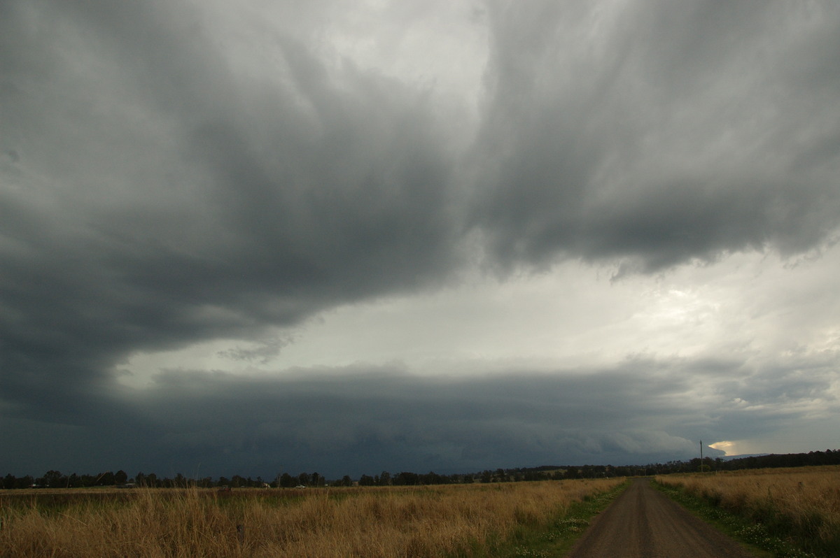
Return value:
[(656, 477), (817, 555), (840, 555), (840, 467), (752, 469)]

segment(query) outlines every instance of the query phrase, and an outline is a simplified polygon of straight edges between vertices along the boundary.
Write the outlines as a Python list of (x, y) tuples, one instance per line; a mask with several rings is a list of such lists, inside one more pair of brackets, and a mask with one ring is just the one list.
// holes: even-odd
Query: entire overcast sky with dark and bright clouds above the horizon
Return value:
[(840, 4), (0, 0), (0, 474), (840, 447)]

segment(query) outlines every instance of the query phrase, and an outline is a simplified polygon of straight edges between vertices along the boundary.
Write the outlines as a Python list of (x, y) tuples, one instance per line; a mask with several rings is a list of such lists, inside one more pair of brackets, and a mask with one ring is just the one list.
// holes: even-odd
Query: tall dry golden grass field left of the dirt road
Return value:
[(229, 494), (143, 489), (110, 501), (7, 502), (0, 512), (0, 555), (481, 555), (518, 525), (548, 523), (571, 503), (622, 480)]

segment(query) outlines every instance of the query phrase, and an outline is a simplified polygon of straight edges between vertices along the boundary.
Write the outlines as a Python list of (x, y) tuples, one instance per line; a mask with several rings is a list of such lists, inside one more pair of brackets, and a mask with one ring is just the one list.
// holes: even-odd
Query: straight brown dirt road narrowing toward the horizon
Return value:
[(568, 558), (748, 558), (742, 546), (696, 519), (646, 479), (592, 522)]

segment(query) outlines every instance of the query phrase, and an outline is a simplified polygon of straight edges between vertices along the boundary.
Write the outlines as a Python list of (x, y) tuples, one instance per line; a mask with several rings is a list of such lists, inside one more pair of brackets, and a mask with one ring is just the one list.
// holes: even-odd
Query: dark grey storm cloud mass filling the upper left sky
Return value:
[(329, 76), (282, 34), (265, 81), (239, 83), (181, 8), (5, 8), (7, 397), (87, 391), (130, 350), (246, 336), (449, 267), (449, 156), (422, 98), (351, 65)]

